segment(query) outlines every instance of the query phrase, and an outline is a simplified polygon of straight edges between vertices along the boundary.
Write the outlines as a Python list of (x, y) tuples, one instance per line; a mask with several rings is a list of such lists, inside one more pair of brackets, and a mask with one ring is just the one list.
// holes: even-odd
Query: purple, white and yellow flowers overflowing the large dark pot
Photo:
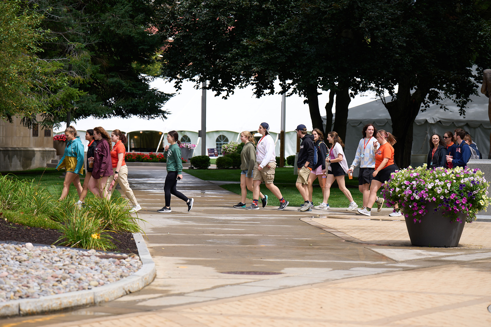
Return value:
[(480, 169), (426, 167), (409, 166), (392, 173), (382, 191), (387, 205), (399, 203), (406, 219), (412, 218), (414, 222), (421, 222), (428, 207), (433, 206), (444, 217), (458, 222), (463, 222), (459, 217), (463, 214), (467, 222), (472, 222), (479, 211), (486, 210), (490, 184)]

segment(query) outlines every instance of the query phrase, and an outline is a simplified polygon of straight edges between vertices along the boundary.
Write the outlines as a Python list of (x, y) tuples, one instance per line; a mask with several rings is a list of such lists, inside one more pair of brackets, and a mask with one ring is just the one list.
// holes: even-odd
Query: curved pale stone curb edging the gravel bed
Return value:
[(39, 299), (13, 300), (0, 303), (0, 318), (26, 316), (41, 312), (56, 311), (76, 306), (94, 305), (108, 302), (123, 295), (141, 290), (155, 278), (155, 263), (140, 233), (133, 233), (142, 267), (134, 274), (109, 285), (91, 290), (74, 291)]

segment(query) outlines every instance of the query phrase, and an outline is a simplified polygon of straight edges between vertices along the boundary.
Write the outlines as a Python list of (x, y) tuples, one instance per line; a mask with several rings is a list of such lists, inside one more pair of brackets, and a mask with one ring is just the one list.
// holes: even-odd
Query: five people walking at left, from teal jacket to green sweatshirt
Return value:
[[(130, 212), (136, 213), (141, 210), (141, 206), (138, 204), (135, 194), (128, 183), (128, 167), (124, 161), (126, 153), (124, 144), (128, 140), (120, 130), (113, 130), (110, 136), (102, 127), (95, 127), (86, 131), (85, 139), (89, 143), (87, 146), (86, 174), (83, 186), (80, 182), (80, 177), (83, 176), (84, 164), (82, 141), (73, 126), (65, 129), (65, 136), (67, 138), (65, 152), (56, 166), (57, 170), (66, 169), (60, 201), (68, 195), (72, 183), (79, 194), (79, 201), (77, 202), (79, 208), (85, 205), (84, 200), (88, 191), (91, 191), (96, 197), (109, 199), (117, 184), (119, 184), (122, 193), (133, 204)], [(112, 142), (114, 142), (114, 145), (111, 147)], [(178, 134), (176, 131), (171, 131), (167, 134), (167, 142), (170, 145), (165, 146), (164, 152), (164, 157), (167, 159), (167, 176), (164, 186), (165, 205), (158, 212), (168, 213), (172, 211), (170, 209), (171, 194), (184, 200), (188, 205), (188, 211), (191, 211), (194, 199), (190, 199), (176, 190), (177, 181), (183, 177), (181, 149), (177, 144)]]

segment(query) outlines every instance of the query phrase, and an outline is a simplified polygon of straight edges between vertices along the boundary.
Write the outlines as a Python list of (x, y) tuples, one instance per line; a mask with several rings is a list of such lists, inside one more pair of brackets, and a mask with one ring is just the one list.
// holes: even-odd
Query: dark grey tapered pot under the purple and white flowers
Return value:
[(442, 210), (435, 212), (435, 205), (426, 206), (428, 213), (421, 222), (406, 218), (411, 244), (416, 246), (454, 247), (459, 245), (465, 225), (465, 215), (461, 214), (462, 222), (452, 222), (442, 216)]

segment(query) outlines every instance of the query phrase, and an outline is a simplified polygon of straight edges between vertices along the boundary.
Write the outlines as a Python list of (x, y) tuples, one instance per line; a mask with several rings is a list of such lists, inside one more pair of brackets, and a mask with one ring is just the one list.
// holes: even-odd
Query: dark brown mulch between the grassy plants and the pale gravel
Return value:
[[(109, 232), (113, 237), (112, 243), (116, 246), (113, 252), (138, 253), (133, 234), (128, 232)], [(0, 219), (0, 240), (15, 242), (30, 242), (52, 245), (61, 237), (61, 232), (55, 229), (27, 227), (21, 224)], [(56, 245), (56, 244), (55, 244)]]

